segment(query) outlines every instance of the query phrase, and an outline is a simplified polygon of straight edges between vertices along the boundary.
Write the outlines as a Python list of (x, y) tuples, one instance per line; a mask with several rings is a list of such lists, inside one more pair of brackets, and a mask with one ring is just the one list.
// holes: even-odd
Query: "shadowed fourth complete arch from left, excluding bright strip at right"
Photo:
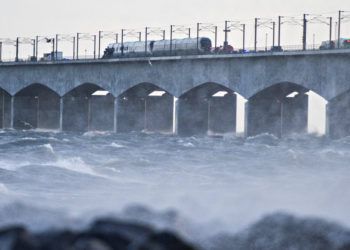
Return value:
[(218, 83), (201, 84), (178, 99), (180, 135), (236, 133), (236, 116), (236, 93)]

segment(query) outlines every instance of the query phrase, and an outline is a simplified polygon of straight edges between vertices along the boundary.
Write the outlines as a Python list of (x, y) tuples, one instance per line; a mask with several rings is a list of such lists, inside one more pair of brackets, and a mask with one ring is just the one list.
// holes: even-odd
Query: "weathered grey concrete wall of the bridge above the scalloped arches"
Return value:
[(213, 82), (249, 99), (269, 86), (291, 82), (330, 100), (350, 89), (349, 68), (348, 50), (3, 63), (0, 87), (14, 95), (30, 84), (41, 83), (63, 96), (83, 83), (93, 83), (119, 96), (146, 82), (179, 97)]

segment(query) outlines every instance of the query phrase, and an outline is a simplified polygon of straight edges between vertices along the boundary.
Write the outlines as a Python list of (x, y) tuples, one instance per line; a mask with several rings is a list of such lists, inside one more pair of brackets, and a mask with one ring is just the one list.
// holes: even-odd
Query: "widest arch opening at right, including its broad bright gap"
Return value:
[(283, 137), (293, 133), (325, 133), (325, 99), (294, 84), (279, 83), (252, 96), (246, 106), (246, 134)]

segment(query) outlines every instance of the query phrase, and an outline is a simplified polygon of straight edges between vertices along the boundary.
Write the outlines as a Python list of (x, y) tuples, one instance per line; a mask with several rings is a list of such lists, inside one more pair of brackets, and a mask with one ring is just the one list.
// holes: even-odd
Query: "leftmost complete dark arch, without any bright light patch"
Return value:
[(13, 127), (59, 129), (60, 96), (51, 88), (33, 83), (14, 96)]

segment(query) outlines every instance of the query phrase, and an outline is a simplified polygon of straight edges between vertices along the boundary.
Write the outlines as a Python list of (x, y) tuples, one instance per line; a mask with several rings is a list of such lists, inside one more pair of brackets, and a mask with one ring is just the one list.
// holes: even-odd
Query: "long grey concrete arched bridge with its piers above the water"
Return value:
[(350, 135), (347, 50), (2, 63), (0, 90), (2, 128), (183, 135), (235, 132), (238, 93), (249, 136), (306, 132), (312, 90), (327, 133)]

